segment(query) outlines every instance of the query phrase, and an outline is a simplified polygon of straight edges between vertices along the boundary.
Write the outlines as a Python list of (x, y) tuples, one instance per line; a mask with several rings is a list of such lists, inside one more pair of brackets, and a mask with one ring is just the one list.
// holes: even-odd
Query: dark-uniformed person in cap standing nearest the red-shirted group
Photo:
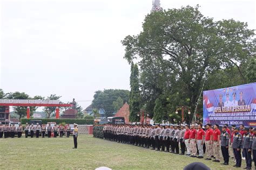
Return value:
[(228, 165), (229, 161), (229, 155), (228, 155), (228, 143), (230, 140), (230, 134), (227, 132), (227, 126), (222, 127), (222, 133), (221, 133), (221, 153), (223, 155), (224, 163), (223, 165)]

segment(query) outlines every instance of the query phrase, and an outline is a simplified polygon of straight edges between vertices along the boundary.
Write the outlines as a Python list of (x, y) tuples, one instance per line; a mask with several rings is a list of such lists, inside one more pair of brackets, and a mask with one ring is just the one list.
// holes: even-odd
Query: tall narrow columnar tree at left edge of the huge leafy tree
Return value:
[(139, 91), (139, 68), (137, 64), (133, 65), (131, 70), (131, 78), (130, 78), (130, 86), (131, 86), (131, 93), (130, 93), (130, 115), (129, 121), (130, 122), (139, 122), (140, 117), (137, 116), (140, 111), (140, 91)]

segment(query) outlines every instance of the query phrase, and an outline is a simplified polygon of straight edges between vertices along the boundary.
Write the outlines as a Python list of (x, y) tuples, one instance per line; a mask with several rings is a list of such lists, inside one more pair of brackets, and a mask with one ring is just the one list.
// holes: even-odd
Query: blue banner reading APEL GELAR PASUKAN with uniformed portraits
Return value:
[(256, 83), (204, 91), (204, 124), (256, 126)]

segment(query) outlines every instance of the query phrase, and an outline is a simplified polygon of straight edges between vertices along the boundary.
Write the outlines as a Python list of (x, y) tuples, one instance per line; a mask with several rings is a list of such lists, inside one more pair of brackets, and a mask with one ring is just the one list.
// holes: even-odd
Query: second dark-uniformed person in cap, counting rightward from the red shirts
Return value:
[(234, 167), (241, 167), (242, 159), (241, 159), (241, 148), (242, 148), (242, 135), (241, 133), (238, 132), (238, 128), (235, 127), (234, 129), (234, 137), (233, 137), (233, 151), (234, 151), (234, 156), (236, 160), (236, 164)]

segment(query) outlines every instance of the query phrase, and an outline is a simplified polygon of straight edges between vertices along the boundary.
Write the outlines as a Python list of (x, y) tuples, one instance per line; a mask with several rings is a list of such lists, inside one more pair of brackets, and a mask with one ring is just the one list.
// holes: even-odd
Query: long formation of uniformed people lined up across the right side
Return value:
[(256, 130), (251, 127), (245, 128), (244, 125), (232, 125), (230, 128), (231, 130), (227, 124), (221, 126), (221, 131), (218, 124), (214, 124), (213, 127), (212, 124), (106, 124), (93, 128), (93, 136), (198, 159), (203, 159), (206, 153), (205, 160), (213, 159), (213, 162), (220, 162), (221, 152), (224, 158), (223, 165), (228, 165), (231, 157), (235, 162), (234, 167), (241, 167), (241, 160), (245, 159), (245, 169), (251, 169), (252, 155), (256, 165)]

